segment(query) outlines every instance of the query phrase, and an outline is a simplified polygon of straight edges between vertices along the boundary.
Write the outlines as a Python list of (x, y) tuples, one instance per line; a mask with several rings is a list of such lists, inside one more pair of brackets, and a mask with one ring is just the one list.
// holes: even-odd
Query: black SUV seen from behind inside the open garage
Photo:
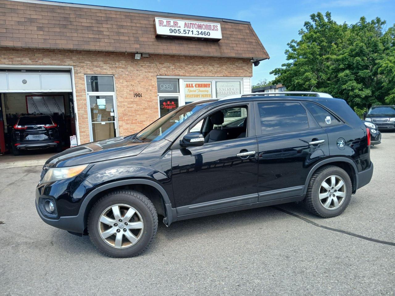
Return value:
[(55, 148), (60, 152), (58, 125), (49, 115), (26, 115), (18, 118), (11, 132), (14, 155), (21, 150)]

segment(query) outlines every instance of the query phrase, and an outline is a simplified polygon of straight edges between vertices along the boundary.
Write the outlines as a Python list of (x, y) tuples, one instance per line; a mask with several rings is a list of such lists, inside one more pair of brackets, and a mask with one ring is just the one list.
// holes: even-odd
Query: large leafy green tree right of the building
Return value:
[(328, 92), (355, 110), (395, 99), (394, 27), (361, 17), (352, 25), (337, 24), (331, 13), (310, 15), (299, 41), (288, 43), (287, 62), (271, 71), (287, 90)]

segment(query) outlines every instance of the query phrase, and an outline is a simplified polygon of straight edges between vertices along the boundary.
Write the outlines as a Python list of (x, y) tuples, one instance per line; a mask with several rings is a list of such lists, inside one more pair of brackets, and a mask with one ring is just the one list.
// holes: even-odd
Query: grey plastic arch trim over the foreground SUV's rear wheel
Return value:
[(342, 169), (344, 169), (348, 176), (350, 176), (351, 179), (351, 183), (352, 183), (352, 193), (355, 193), (355, 191), (357, 190), (357, 186), (358, 186), (358, 170), (357, 170), (357, 166), (355, 165), (354, 161), (352, 161), (351, 159), (347, 158), (347, 157), (332, 157), (332, 158), (328, 158), (328, 159), (324, 159), (318, 163), (316, 163), (310, 170), (310, 172), (307, 175), (306, 178), (306, 182), (305, 182), (305, 189), (303, 194), (305, 195), (307, 193), (307, 188), (308, 188), (308, 183), (310, 182), (310, 179), (312, 177), (312, 175), (314, 174), (314, 172), (316, 172), (316, 170), (320, 169), (321, 167), (325, 166), (325, 165), (335, 165), (337, 167), (340, 167)]

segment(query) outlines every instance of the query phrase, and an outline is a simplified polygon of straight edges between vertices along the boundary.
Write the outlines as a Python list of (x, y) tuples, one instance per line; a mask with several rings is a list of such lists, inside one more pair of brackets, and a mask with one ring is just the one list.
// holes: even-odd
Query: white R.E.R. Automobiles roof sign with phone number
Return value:
[(212, 40), (222, 39), (221, 24), (216, 22), (196, 22), (156, 17), (155, 30), (156, 36)]

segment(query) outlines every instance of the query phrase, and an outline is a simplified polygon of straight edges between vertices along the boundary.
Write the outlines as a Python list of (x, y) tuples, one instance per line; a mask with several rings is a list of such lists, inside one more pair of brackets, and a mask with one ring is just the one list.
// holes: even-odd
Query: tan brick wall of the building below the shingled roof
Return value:
[[(156, 66), (155, 66), (155, 63)], [(0, 48), (0, 64), (73, 66), (81, 143), (89, 142), (85, 74), (115, 75), (119, 134), (139, 131), (158, 118), (156, 76), (251, 77), (249, 59), (50, 49)], [(142, 98), (134, 98), (141, 93)]]

